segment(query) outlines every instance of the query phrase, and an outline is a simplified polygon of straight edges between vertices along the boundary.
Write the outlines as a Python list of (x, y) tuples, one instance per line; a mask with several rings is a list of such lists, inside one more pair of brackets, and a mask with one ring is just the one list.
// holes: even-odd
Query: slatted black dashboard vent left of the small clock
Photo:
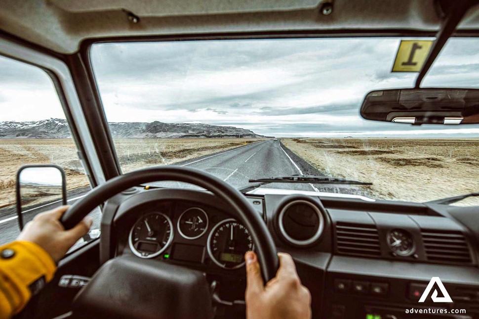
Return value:
[(336, 243), (339, 254), (380, 257), (378, 230), (373, 225), (336, 224)]

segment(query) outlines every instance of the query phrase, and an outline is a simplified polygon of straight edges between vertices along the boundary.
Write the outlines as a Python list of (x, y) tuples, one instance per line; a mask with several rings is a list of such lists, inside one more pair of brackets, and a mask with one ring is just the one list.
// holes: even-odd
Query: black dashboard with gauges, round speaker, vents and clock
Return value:
[[(302, 194), (246, 198), (278, 251), (295, 259), (313, 318), (411, 318), (405, 310), (412, 307), (466, 309), (440, 318), (479, 318), (477, 235), (464, 226), (474, 209)], [(108, 211), (104, 259), (126, 254), (198, 269), (218, 283), (223, 300), (244, 299), (243, 256), (254, 244), (213, 195), (137, 187), (112, 198)], [(418, 303), (432, 277), (453, 303), (430, 296)]]

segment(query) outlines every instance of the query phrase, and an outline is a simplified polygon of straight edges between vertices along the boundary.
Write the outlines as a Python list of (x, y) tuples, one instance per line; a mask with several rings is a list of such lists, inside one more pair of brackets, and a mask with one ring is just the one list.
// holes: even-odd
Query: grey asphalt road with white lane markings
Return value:
[[(288, 176), (293, 174), (320, 174), (318, 171), (311, 172), (312, 168), (305, 167), (302, 159), (282, 147), (278, 140), (273, 139), (206, 155), (179, 163), (179, 165), (204, 170), (237, 188), (250, 184), (248, 182), (249, 179)], [(177, 185), (178, 183), (171, 182), (155, 184), (159, 186), (179, 186)], [(184, 186), (185, 184), (181, 185), (181, 187)], [(271, 183), (268, 184), (267, 187), (309, 191), (318, 190), (313, 184)], [(69, 194), (68, 197), (71, 199), (68, 203), (73, 204), (85, 194), (85, 191)], [(42, 211), (58, 207), (60, 204), (61, 203), (54, 202), (41, 205), (40, 207), (31, 209), (27, 214), (33, 216)], [(95, 220), (93, 228), (99, 228), (99, 210), (97, 209), (95, 212), (92, 212), (91, 215)], [(13, 209), (10, 208), (10, 211), (4, 211), (0, 216), (0, 244), (2, 244), (13, 240), (18, 235), (19, 228), (16, 213)]]

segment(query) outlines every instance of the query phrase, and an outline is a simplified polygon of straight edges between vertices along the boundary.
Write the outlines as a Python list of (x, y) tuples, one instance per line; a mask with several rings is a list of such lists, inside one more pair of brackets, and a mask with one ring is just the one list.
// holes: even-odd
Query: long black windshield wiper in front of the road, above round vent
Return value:
[(272, 177), (265, 179), (253, 179), (249, 182), (257, 182), (256, 184), (240, 188), (239, 191), (243, 194), (250, 190), (261, 187), (269, 183), (315, 183), (315, 184), (349, 184), (349, 185), (372, 185), (371, 182), (359, 182), (354, 180), (347, 180), (339, 177), (326, 177), (314, 175), (291, 175), (283, 177)]

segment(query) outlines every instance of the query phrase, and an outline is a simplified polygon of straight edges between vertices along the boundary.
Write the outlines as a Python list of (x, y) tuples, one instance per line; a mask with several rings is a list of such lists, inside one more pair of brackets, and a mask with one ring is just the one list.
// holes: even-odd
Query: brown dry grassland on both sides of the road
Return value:
[[(260, 139), (115, 139), (123, 172), (173, 164)], [(285, 147), (327, 176), (374, 184), (375, 198), (428, 201), (479, 190), (479, 139), (281, 138)], [(0, 208), (15, 203), (23, 164), (64, 167), (69, 189), (88, 185), (72, 139), (0, 139)]]

